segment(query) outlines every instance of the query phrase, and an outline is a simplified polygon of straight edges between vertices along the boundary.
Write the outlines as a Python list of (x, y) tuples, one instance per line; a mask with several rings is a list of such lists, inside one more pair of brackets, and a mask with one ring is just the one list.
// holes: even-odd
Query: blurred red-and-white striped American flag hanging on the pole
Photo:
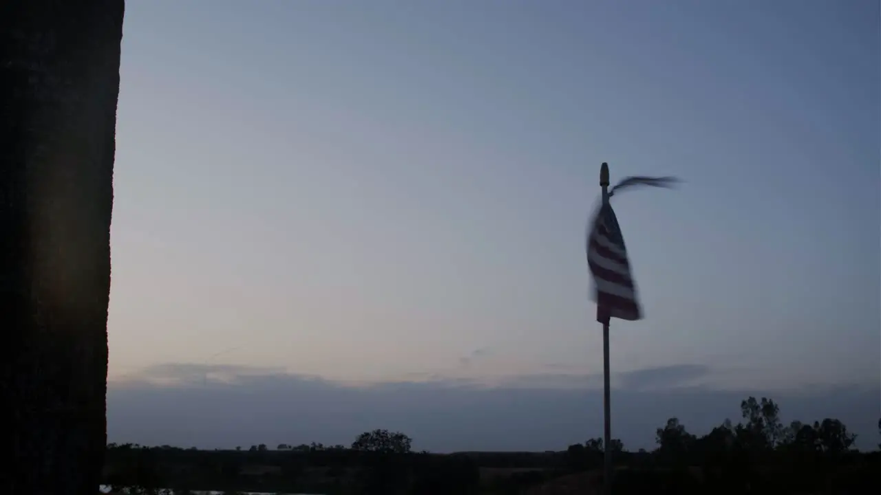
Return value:
[(642, 318), (624, 237), (611, 204), (603, 202), (588, 234), (588, 266), (594, 278), (596, 321)]

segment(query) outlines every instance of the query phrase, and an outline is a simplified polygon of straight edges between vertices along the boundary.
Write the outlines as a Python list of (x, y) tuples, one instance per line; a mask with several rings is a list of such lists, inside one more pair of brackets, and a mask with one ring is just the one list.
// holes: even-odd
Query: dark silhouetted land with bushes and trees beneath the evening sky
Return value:
[[(855, 450), (856, 435), (835, 418), (783, 425), (773, 400), (748, 397), (742, 420), (707, 434), (676, 417), (655, 431), (653, 450), (612, 440), (615, 493), (848, 493), (877, 486), (881, 452)], [(552, 420), (549, 418), (549, 420)], [(878, 420), (881, 440), (881, 419)], [(881, 445), (878, 446), (881, 448)], [(280, 443), (275, 448), (107, 446), (105, 482), (117, 486), (225, 491), (349, 493), (528, 493), (543, 484), (592, 477), (601, 484), (603, 440), (551, 452), (414, 452), (403, 432), (361, 433), (349, 446)]]

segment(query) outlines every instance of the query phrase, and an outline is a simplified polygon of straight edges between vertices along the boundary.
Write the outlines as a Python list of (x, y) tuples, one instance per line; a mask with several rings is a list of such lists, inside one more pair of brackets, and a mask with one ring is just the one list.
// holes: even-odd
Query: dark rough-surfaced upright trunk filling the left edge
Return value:
[(0, 0), (0, 493), (95, 495), (122, 0)]

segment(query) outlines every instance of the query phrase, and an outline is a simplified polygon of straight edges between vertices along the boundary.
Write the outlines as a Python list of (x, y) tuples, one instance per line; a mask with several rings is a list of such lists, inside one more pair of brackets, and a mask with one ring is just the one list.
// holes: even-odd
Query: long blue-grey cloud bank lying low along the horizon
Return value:
[[(657, 375), (657, 369), (624, 373), (621, 387), (613, 389), (612, 434), (627, 447), (654, 447), (655, 428), (668, 417), (680, 418), (698, 434), (726, 417), (737, 422), (740, 401), (763, 395), (706, 387), (648, 389), (658, 379), (645, 377)], [(660, 381), (700, 376), (700, 370), (687, 369), (661, 372), (669, 380)], [(352, 386), (275, 368), (170, 364), (109, 384), (107, 432), (116, 442), (213, 448), (349, 444), (359, 432), (389, 428), (411, 435), (415, 448), (438, 452), (562, 449), (602, 436), (602, 380), (599, 388), (596, 380), (549, 373), (495, 386), (440, 376)], [(767, 396), (780, 404), (784, 422), (838, 417), (860, 435), (860, 447), (877, 444), (877, 386)]]

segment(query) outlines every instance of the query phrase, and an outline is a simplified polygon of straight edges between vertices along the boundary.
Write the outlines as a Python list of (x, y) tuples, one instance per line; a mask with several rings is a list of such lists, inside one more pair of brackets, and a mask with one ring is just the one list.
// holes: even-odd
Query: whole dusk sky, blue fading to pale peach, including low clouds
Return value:
[(126, 4), (111, 441), (600, 436), (606, 161), (684, 181), (613, 200), (613, 436), (764, 394), (877, 443), (877, 1)]

